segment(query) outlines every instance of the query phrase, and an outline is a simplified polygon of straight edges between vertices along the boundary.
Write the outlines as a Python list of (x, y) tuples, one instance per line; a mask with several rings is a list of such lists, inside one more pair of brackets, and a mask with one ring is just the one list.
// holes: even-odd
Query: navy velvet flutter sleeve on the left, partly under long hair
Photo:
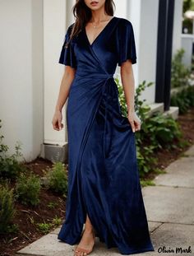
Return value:
[(58, 63), (76, 68), (76, 56), (74, 53), (74, 45), (72, 41), (66, 46), (67, 41), (70, 39), (73, 24), (67, 28)]

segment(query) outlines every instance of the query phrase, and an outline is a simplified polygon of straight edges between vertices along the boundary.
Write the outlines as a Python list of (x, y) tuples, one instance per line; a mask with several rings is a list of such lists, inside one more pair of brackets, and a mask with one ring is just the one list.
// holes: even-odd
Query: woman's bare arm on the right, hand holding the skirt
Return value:
[(135, 81), (132, 70), (132, 62), (127, 60), (121, 65), (122, 88), (127, 103), (127, 119), (132, 126), (132, 132), (135, 133), (141, 129), (141, 120), (135, 112)]

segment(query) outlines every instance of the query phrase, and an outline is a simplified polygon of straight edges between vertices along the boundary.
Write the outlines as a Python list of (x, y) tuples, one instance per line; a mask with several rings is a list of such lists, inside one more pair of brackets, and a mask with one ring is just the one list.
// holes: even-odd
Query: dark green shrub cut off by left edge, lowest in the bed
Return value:
[(8, 184), (0, 184), (0, 233), (7, 233), (15, 214), (13, 189)]

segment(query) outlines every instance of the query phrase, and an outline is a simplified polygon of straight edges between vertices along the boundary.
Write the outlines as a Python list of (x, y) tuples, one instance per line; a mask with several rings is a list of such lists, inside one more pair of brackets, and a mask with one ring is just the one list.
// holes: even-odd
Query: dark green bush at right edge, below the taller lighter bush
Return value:
[(190, 107), (194, 106), (194, 86), (187, 86), (181, 91), (174, 92), (171, 95), (170, 105), (178, 106), (180, 114), (186, 113)]

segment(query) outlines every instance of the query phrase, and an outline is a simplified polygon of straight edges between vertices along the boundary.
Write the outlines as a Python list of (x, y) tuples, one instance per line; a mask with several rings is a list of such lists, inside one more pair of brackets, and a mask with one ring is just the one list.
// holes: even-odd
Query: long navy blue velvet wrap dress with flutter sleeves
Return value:
[(73, 25), (59, 58), (76, 73), (67, 100), (68, 192), (58, 239), (79, 243), (88, 214), (107, 249), (117, 247), (121, 254), (153, 251), (135, 133), (122, 116), (113, 79), (117, 64), (127, 59), (136, 63), (132, 23), (113, 16), (92, 44), (84, 28), (66, 45)]

